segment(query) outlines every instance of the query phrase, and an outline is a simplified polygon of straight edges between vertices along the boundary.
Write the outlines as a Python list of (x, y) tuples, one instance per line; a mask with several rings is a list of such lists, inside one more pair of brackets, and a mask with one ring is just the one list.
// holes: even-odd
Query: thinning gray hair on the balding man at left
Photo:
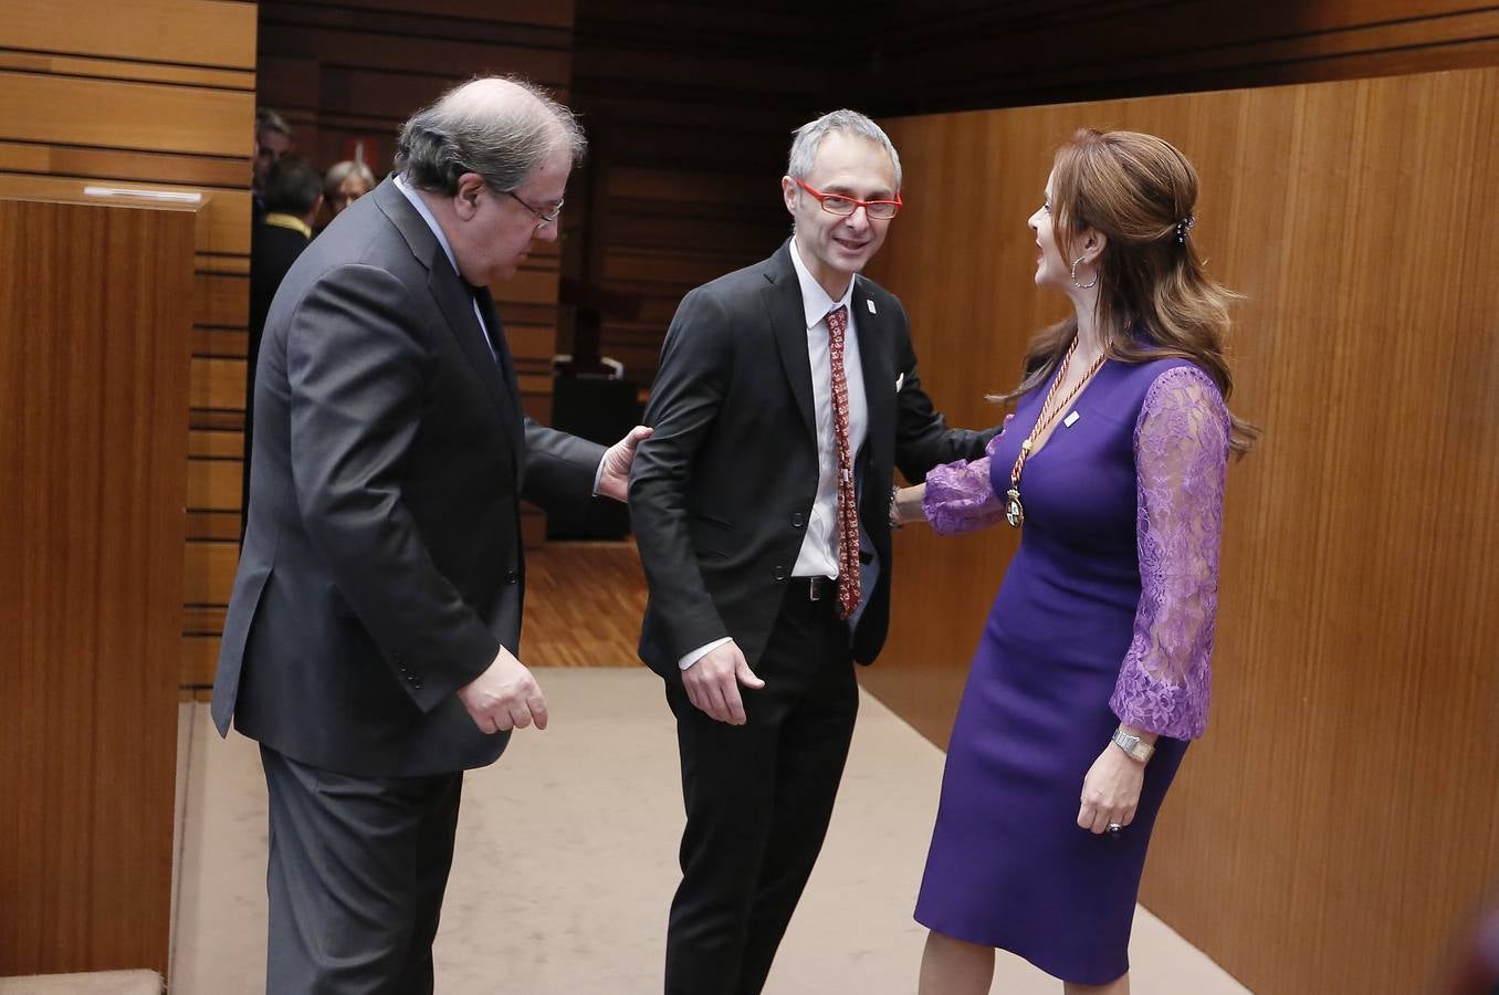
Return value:
[(525, 186), (558, 147), (573, 163), (588, 139), (573, 111), (516, 76), (480, 76), (453, 87), (400, 129), (396, 169), (418, 190), (453, 196), (477, 172), (496, 192)]

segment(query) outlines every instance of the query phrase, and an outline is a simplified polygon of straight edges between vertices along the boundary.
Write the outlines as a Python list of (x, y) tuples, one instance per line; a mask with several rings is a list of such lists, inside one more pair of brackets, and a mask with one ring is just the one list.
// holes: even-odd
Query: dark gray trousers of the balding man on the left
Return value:
[(276, 995), (430, 994), (462, 773), (352, 778), (261, 746)]

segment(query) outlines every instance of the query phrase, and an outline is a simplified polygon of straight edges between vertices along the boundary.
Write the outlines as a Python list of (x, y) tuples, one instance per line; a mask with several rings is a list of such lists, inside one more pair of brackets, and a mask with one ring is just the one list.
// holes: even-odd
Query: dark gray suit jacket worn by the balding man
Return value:
[(415, 776), (492, 763), (454, 692), (520, 655), (519, 502), (589, 500), (603, 448), (522, 417), (474, 297), (387, 180), (297, 259), (255, 378), (249, 524), (214, 682), (303, 763)]

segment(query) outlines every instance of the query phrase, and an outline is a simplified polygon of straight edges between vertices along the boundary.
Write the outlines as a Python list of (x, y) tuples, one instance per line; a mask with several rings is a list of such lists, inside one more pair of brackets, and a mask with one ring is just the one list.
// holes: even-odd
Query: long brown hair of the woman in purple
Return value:
[[(1072, 256), (1087, 228), (1108, 241), (1097, 259), (1097, 319), (1103, 354), (1121, 363), (1183, 358), (1213, 378), (1226, 402), (1234, 390), (1223, 343), (1237, 294), (1208, 276), (1190, 235), (1198, 172), (1171, 142), (1139, 132), (1079, 129), (1057, 151), (1051, 220), (1057, 247)], [(1025, 352), (1012, 400), (1046, 382), (1078, 318), (1043, 328)], [(1229, 445), (1243, 456), (1259, 430), (1229, 414)]]

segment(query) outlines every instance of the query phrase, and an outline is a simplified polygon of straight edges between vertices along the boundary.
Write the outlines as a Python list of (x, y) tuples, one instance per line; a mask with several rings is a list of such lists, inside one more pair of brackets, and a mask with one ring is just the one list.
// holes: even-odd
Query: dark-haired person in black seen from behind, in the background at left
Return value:
[[(312, 241), (312, 220), (322, 205), (322, 180), (312, 163), (301, 156), (280, 156), (265, 171), (265, 213), (250, 228), (250, 340), (244, 364), (244, 472), (240, 487), (240, 508), (250, 500), (250, 454), (255, 430), (255, 360), (265, 334), (265, 315), (271, 310), (276, 289), (301, 250)], [(240, 536), (244, 521), (240, 520)]]

